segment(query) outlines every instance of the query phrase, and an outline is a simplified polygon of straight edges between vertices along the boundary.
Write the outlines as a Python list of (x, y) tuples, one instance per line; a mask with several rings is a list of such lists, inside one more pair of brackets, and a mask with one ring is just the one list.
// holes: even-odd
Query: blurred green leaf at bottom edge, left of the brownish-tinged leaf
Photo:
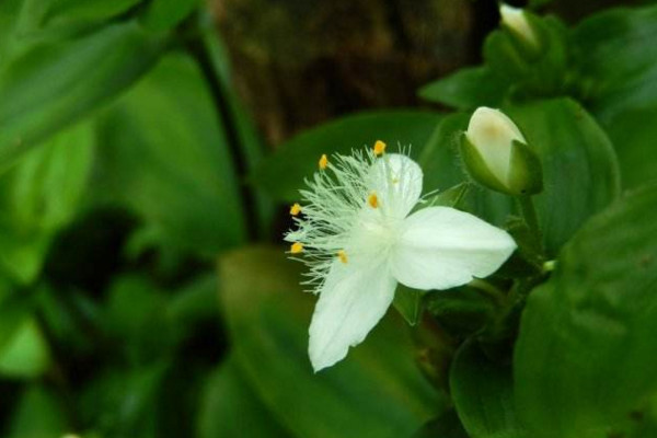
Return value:
[(207, 380), (197, 430), (198, 438), (292, 436), (267, 412), (230, 356)]

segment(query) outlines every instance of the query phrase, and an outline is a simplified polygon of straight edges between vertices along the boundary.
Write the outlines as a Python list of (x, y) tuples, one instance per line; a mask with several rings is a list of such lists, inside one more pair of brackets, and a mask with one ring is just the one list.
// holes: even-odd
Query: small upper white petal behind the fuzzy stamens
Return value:
[(419, 199), (422, 180), (422, 169), (415, 161), (400, 153), (387, 153), (372, 164), (368, 186), (385, 216), (403, 219)]

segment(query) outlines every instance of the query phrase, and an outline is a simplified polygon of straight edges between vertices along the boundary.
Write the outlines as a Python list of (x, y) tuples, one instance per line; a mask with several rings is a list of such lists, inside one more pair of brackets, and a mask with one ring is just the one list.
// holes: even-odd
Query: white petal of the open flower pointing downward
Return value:
[(310, 324), (309, 355), (315, 372), (344, 359), (392, 302), (396, 281), (387, 264), (364, 262), (336, 261), (320, 290)]

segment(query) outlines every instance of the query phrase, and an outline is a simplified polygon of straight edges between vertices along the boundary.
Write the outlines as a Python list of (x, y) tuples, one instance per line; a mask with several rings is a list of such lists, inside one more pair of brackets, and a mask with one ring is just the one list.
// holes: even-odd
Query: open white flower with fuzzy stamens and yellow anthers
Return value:
[[(380, 157), (379, 157), (380, 155)], [(403, 153), (322, 158), (293, 208), (292, 254), (320, 299), (310, 325), (315, 371), (342, 360), (384, 315), (397, 281), (449, 289), (499, 268), (516, 249), (505, 231), (453, 208), (422, 203), (423, 173)], [(300, 214), (300, 215), (299, 215)]]

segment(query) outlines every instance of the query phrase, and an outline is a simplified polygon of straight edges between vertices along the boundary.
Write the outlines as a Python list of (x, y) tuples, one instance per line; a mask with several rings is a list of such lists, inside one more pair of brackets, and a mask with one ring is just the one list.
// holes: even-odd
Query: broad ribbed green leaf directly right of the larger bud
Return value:
[(549, 256), (620, 193), (613, 147), (596, 120), (568, 99), (508, 106), (505, 112), (540, 155), (543, 192), (535, 196)]

